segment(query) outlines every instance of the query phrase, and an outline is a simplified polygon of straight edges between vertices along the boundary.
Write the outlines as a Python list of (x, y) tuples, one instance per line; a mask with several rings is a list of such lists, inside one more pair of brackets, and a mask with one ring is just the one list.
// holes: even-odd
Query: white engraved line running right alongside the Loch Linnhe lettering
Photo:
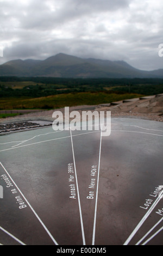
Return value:
[(151, 206), (151, 208), (147, 211), (147, 213), (145, 214), (145, 216), (143, 216), (143, 218), (141, 219), (141, 221), (139, 222), (139, 224), (137, 224), (136, 228), (133, 230), (133, 232), (130, 234), (130, 236), (128, 237), (128, 239), (126, 240), (126, 242), (124, 242), (123, 245), (128, 245), (128, 243), (131, 241), (131, 239), (133, 239), (134, 235), (136, 234), (136, 232), (140, 229), (140, 227), (142, 226), (142, 224), (146, 221), (146, 219), (148, 218), (148, 216), (151, 214), (151, 212), (153, 211), (153, 209), (155, 208), (155, 206), (160, 202), (161, 198), (162, 198), (162, 194), (163, 194), (163, 190), (161, 191), (161, 193), (159, 194), (158, 198), (155, 200), (155, 202), (153, 203), (153, 205)]

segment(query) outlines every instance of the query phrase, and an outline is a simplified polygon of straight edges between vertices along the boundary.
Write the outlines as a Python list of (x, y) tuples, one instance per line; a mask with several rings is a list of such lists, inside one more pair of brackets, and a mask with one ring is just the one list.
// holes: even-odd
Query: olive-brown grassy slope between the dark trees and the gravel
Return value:
[(46, 97), (8, 97), (0, 100), (0, 109), (54, 109), (65, 106), (98, 105), (140, 97), (140, 94), (116, 93), (69, 93)]

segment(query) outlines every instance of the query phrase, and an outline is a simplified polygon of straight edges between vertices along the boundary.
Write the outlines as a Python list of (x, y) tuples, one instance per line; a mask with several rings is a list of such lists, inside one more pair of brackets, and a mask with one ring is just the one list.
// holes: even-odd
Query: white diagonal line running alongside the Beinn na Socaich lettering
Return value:
[(33, 209), (33, 207), (30, 205), (30, 203), (28, 202), (28, 200), (26, 199), (26, 197), (23, 195), (23, 193), (21, 192), (20, 188), (18, 188), (18, 186), (16, 185), (15, 181), (11, 178), (10, 174), (7, 172), (7, 170), (4, 168), (3, 164), (0, 162), (1, 166), (3, 167), (3, 169), (5, 170), (5, 172), (8, 174), (9, 178), (12, 180), (13, 184), (17, 187), (17, 190), (21, 193), (22, 197), (26, 200), (27, 204), (29, 205), (29, 208), (33, 211), (34, 215), (36, 216), (37, 220), (39, 220), (39, 222), (41, 223), (42, 227), (46, 230), (47, 234), (49, 235), (49, 237), (51, 237), (52, 241), (55, 243), (55, 245), (58, 245), (57, 241), (54, 239), (54, 237), (52, 236), (52, 234), (49, 232), (49, 230), (47, 229), (46, 225), (41, 221), (40, 217), (36, 214), (35, 210)]

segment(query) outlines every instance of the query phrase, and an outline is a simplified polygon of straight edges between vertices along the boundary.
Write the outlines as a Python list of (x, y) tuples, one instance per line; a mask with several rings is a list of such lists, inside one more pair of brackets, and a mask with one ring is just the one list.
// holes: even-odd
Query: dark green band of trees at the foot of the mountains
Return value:
[[(6, 82), (16, 84), (16, 82), (24, 81), (32, 81), (36, 85), (29, 84), (21, 89), (14, 89), (14, 87), (5, 85)], [(160, 94), (163, 93), (163, 79), (0, 77), (0, 97), (42, 97), (79, 92)]]

